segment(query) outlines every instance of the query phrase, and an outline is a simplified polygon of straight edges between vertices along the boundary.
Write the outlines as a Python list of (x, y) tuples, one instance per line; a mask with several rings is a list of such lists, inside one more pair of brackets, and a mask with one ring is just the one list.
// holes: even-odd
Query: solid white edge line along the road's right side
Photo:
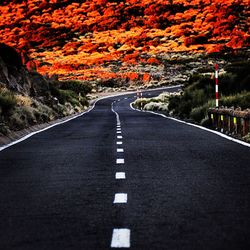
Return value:
[(161, 117), (163, 117), (163, 118), (167, 118), (167, 119), (169, 119), (169, 120), (173, 120), (173, 121), (176, 121), (176, 122), (179, 122), (179, 123), (186, 124), (186, 125), (188, 125), (188, 126), (192, 126), (192, 127), (195, 127), (195, 128), (199, 128), (199, 129), (205, 130), (205, 131), (207, 131), (207, 132), (216, 134), (216, 135), (218, 135), (218, 136), (220, 136), (220, 137), (223, 137), (223, 138), (225, 138), (225, 139), (227, 139), (227, 140), (229, 140), (229, 141), (233, 141), (233, 142), (235, 142), (235, 143), (238, 143), (238, 144), (241, 144), (241, 145), (243, 145), (243, 146), (246, 146), (246, 147), (249, 147), (249, 148), (250, 148), (250, 144), (249, 144), (249, 143), (240, 141), (240, 140), (235, 139), (235, 138), (232, 138), (232, 137), (230, 137), (230, 136), (228, 136), (228, 135), (224, 135), (224, 134), (222, 134), (221, 132), (214, 131), (214, 130), (211, 130), (211, 129), (209, 129), (209, 128), (205, 128), (205, 127), (202, 127), (202, 126), (199, 126), (199, 125), (196, 125), (196, 124), (192, 124), (192, 123), (189, 123), (189, 122), (185, 122), (185, 121), (182, 121), (182, 120), (178, 120), (178, 119), (173, 118), (173, 117), (168, 117), (168, 116), (163, 115), (163, 114), (158, 114), (158, 113), (156, 113), (156, 112), (154, 112), (154, 111), (147, 111), (147, 110), (139, 110), (139, 109), (136, 109), (136, 108), (134, 108), (134, 107), (132, 106), (132, 102), (130, 103), (130, 108), (131, 108), (132, 110), (135, 110), (135, 111), (138, 111), (138, 112), (151, 113), (151, 114), (154, 114), (154, 115), (161, 116)]

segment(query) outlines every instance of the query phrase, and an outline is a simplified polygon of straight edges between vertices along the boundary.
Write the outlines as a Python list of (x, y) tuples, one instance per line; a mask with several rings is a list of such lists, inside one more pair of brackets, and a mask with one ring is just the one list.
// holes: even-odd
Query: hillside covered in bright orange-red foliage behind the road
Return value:
[(43, 74), (148, 82), (180, 54), (248, 49), (248, 19), (247, 0), (14, 0), (0, 39)]

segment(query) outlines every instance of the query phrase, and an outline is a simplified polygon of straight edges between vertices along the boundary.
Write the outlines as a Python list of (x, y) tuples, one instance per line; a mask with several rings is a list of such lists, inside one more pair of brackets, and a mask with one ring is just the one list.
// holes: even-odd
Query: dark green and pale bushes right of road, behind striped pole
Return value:
[[(250, 62), (230, 63), (219, 75), (220, 106), (250, 108)], [(208, 109), (215, 107), (215, 80), (211, 74), (195, 74), (184, 84), (181, 94), (164, 94), (157, 98), (139, 99), (134, 105), (145, 110), (164, 111), (164, 113), (208, 124)], [(153, 105), (158, 102), (160, 104)], [(148, 105), (148, 103), (151, 103)]]

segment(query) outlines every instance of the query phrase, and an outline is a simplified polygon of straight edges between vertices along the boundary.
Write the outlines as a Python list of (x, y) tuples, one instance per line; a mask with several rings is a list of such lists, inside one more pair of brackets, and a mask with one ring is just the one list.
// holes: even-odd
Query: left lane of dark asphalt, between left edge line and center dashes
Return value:
[(0, 153), (0, 249), (105, 249), (115, 193), (111, 101)]

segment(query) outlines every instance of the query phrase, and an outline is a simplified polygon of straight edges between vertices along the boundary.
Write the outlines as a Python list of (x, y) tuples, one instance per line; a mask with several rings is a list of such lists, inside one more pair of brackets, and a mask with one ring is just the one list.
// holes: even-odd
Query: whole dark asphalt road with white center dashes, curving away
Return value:
[(250, 249), (250, 148), (134, 99), (0, 152), (0, 249)]

